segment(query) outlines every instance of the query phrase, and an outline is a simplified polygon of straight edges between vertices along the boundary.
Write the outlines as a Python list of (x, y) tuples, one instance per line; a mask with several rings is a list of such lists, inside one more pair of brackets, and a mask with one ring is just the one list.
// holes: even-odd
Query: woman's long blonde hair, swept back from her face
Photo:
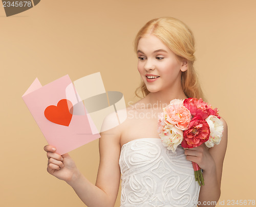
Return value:
[[(205, 100), (197, 73), (193, 66), (196, 60), (194, 56), (194, 34), (187, 25), (174, 17), (160, 17), (148, 21), (140, 29), (134, 40), (134, 50), (136, 54), (139, 40), (146, 34), (155, 35), (173, 51), (177, 58), (187, 60), (188, 69), (181, 74), (182, 89), (188, 98), (202, 98)], [(142, 92), (143, 97), (150, 93), (143, 81), (135, 91), (136, 96), (141, 98), (138, 95), (139, 90)]]

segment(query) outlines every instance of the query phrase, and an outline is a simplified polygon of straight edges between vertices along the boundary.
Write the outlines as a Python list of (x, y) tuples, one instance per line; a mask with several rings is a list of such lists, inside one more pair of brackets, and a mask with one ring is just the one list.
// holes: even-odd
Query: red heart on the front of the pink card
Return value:
[(72, 112), (69, 109), (73, 109), (72, 102), (68, 99), (61, 99), (57, 106), (49, 106), (45, 109), (45, 117), (56, 124), (69, 126), (72, 119)]

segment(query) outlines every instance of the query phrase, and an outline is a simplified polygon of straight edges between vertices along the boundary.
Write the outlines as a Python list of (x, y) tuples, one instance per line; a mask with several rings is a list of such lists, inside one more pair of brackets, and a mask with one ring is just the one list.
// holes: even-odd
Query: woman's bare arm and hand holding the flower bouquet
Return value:
[(221, 176), (227, 148), (227, 123), (223, 122), (224, 132), (221, 142), (208, 148), (205, 144), (185, 149), (186, 159), (195, 162), (203, 169), (204, 186), (201, 186), (198, 206), (214, 207), (221, 195)]

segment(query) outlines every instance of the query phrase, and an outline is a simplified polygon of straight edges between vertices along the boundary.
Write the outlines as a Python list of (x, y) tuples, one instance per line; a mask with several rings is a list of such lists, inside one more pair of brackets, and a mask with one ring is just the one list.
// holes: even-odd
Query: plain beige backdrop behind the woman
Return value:
[[(203, 90), (228, 123), (220, 200), (255, 200), (255, 8), (255, 0), (42, 0), (6, 17), (1, 4), (0, 205), (84, 206), (46, 171), (47, 142), (21, 97), (35, 77), (45, 85), (66, 74), (75, 81), (100, 71), (106, 90), (122, 92), (126, 104), (138, 100), (133, 40), (144, 23), (160, 16), (176, 17), (194, 32)], [(98, 140), (70, 155), (95, 183)]]

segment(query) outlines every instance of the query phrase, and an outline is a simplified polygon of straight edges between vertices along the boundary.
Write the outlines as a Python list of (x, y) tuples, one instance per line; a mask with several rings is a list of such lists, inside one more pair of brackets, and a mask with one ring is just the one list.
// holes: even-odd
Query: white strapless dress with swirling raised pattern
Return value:
[(160, 138), (132, 140), (122, 146), (119, 166), (120, 207), (197, 206), (200, 186), (181, 145), (172, 152)]

